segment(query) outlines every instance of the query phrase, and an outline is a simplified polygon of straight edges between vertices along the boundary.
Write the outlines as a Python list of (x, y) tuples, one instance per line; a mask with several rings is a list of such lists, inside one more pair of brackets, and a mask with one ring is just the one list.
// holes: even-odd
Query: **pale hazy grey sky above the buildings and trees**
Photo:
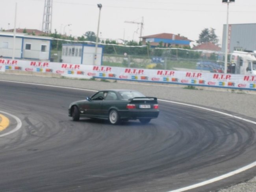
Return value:
[[(198, 40), (204, 28), (215, 29), (222, 40), (227, 5), (222, 0), (52, 0), (52, 31), (81, 36), (97, 32), (99, 8), (100, 34), (103, 39), (139, 40), (143, 36), (173, 33)], [(229, 6), (229, 24), (256, 23), (256, 0), (235, 0)], [(0, 0), (0, 28), (13, 29), (17, 2), (17, 28), (42, 29), (45, 0)], [(67, 24), (72, 24), (67, 26)]]

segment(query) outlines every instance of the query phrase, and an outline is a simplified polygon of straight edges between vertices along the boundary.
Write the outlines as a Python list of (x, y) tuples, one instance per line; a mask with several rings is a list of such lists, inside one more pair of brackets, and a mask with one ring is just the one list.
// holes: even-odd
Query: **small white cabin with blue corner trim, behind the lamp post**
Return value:
[(62, 44), (62, 62), (84, 65), (102, 65), (103, 46), (98, 45), (95, 59), (95, 45), (89, 44)]

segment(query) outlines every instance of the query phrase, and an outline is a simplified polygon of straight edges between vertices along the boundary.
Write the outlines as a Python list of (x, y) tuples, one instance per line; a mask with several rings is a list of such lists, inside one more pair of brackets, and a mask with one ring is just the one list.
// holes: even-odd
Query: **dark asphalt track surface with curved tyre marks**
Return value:
[[(92, 92), (9, 82), (0, 90), (0, 111), (22, 121), (0, 137), (0, 191), (169, 192), (256, 161), (255, 124), (223, 114), (159, 102), (148, 125), (72, 122), (69, 103)], [(9, 120), (3, 133), (17, 124)], [(190, 191), (234, 185), (255, 171)]]

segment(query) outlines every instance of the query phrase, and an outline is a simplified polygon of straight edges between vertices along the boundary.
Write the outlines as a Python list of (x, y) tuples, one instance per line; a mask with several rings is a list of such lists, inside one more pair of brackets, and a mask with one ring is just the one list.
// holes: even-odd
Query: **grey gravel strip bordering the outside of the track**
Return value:
[[(42, 76), (29, 76), (0, 73), (0, 79), (19, 82), (40, 83), (46, 85), (58, 85), (92, 90), (102, 89), (134, 89), (147, 96), (155, 96), (159, 99), (183, 102), (189, 104), (210, 107), (224, 112), (232, 112), (243, 118), (256, 120), (255, 103), (256, 91), (231, 90), (221, 88), (184, 89), (186, 86), (177, 86), (160, 83), (137, 83), (132, 81), (102, 82), (66, 78), (49, 78)], [(219, 192), (255, 192), (256, 177)]]

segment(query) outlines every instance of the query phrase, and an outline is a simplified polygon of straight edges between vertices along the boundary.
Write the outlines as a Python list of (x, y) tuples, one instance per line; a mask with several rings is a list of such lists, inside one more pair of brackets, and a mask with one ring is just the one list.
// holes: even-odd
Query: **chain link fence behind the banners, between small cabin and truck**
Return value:
[[(62, 62), (61, 51), (51, 51), (51, 61)], [(101, 55), (98, 55), (101, 57)], [(223, 72), (224, 53), (184, 49), (150, 49), (148, 55), (103, 54), (102, 65), (163, 70)]]

